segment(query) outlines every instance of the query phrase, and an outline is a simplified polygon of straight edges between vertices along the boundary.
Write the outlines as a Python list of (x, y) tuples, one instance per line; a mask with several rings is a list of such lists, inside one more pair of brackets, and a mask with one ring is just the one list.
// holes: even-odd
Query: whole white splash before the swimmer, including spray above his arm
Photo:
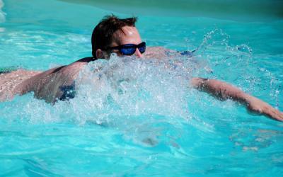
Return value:
[[(219, 52), (215, 52), (219, 46), (224, 47), (220, 49), (225, 51), (220, 56)], [(139, 118), (146, 117), (150, 122), (164, 117), (165, 122), (173, 122), (174, 126), (180, 123), (175, 120), (190, 120), (193, 117), (200, 120), (195, 110), (206, 110), (209, 106), (203, 103), (202, 93), (190, 89), (192, 76), (219, 79), (219, 73), (227, 62), (237, 63), (243, 59), (241, 64), (245, 64), (250, 59), (250, 52), (248, 46), (231, 47), (229, 35), (216, 29), (204, 36), (194, 57), (170, 55), (161, 60), (113, 55), (109, 61), (91, 62), (81, 71), (76, 79), (74, 99), (59, 101), (51, 107), (46, 106), (44, 101), (33, 99), (25, 105), (24, 111), (30, 115), (30, 122), (71, 121), (78, 125), (94, 123), (114, 127), (126, 127), (129, 122), (124, 121), (125, 118), (139, 122)], [(209, 55), (211, 57), (207, 57)], [(215, 57), (221, 59), (218, 64)], [(218, 70), (219, 66), (222, 69)], [(207, 69), (209, 67), (211, 70)], [(232, 64), (230, 67), (235, 66)], [(238, 71), (229, 72), (237, 77)], [(215, 102), (214, 98), (206, 99)], [(43, 119), (42, 116), (36, 118), (39, 114), (31, 109), (34, 107), (42, 107), (39, 114), (45, 115)], [(209, 123), (200, 122), (210, 127)]]

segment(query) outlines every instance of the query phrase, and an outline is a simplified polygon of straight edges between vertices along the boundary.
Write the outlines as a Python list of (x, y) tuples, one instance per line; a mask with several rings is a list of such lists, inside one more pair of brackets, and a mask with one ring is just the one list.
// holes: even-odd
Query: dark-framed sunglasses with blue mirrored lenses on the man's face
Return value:
[(138, 45), (134, 44), (126, 44), (126, 45), (119, 45), (115, 47), (108, 47), (108, 50), (119, 50), (122, 55), (133, 55), (134, 52), (138, 49), (139, 52), (144, 53), (146, 52), (146, 42), (141, 42)]

